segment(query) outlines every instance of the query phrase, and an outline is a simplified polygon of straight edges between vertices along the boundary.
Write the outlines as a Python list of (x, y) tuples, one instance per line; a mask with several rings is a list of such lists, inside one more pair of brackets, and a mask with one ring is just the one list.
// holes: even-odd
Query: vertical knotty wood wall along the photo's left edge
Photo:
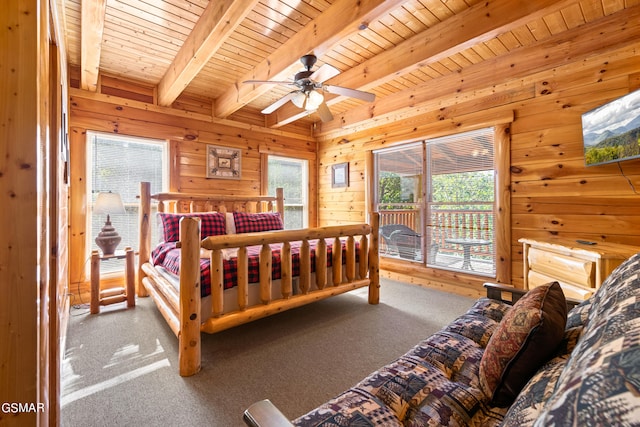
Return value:
[[(63, 165), (58, 159), (66, 83), (50, 8), (48, 1), (0, 3), (3, 426), (59, 424), (67, 223), (66, 186), (59, 182)], [(26, 411), (5, 406), (17, 403), (29, 406)]]

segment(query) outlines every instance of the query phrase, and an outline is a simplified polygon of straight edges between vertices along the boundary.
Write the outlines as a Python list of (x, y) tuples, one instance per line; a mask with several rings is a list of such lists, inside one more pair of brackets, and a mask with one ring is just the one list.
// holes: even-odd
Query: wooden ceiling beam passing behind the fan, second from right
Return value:
[[(341, 73), (328, 83), (368, 90), (387, 83), (398, 75), (438, 62), (573, 3), (575, 0), (480, 2)], [(328, 105), (341, 100), (344, 100), (344, 97), (325, 93)], [(306, 111), (301, 112), (299, 108), (288, 103), (269, 115), (267, 125), (274, 128), (284, 126), (307, 114)]]

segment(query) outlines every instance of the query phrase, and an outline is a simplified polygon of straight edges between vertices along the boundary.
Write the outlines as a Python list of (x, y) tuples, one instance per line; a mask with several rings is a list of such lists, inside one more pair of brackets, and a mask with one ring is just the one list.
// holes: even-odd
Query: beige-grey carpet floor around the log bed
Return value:
[(72, 308), (62, 369), (62, 425), (243, 426), (269, 398), (296, 418), (351, 387), (464, 313), (473, 300), (383, 280), (203, 334), (202, 371), (178, 374), (178, 341), (149, 298), (89, 314)]

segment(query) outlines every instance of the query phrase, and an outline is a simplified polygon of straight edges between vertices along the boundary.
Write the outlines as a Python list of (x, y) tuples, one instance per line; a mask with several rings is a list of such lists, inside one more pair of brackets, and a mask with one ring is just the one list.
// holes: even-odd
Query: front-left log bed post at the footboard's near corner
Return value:
[(200, 219), (180, 220), (180, 375), (200, 371)]

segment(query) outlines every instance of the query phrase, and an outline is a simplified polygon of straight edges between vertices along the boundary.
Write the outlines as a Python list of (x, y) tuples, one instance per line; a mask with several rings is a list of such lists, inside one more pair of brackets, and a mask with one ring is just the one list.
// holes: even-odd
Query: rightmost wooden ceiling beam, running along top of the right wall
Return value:
[[(622, 17), (622, 19), (621, 19)], [(640, 38), (640, 5), (581, 25), (549, 39), (522, 47), (492, 60), (354, 108), (333, 121), (319, 124), (316, 136), (337, 137), (363, 126), (424, 114), (428, 109), (453, 105), (465, 93), (516, 82), (528, 75), (560, 67), (612, 47), (622, 48)], [(547, 52), (540, 55), (540, 52)]]

